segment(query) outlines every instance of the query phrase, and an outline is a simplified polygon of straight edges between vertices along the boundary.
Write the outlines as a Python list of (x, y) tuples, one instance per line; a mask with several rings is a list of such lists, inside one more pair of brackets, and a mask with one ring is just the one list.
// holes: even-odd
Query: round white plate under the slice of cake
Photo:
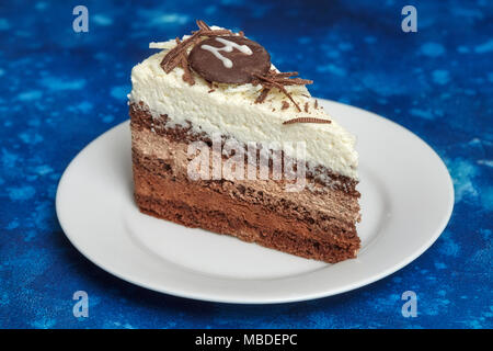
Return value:
[(446, 167), (423, 140), (372, 113), (319, 100), (358, 137), (363, 247), (326, 264), (141, 214), (133, 200), (128, 121), (65, 171), (57, 214), (73, 246), (107, 272), (176, 296), (283, 303), (330, 296), (403, 268), (440, 235), (454, 206)]

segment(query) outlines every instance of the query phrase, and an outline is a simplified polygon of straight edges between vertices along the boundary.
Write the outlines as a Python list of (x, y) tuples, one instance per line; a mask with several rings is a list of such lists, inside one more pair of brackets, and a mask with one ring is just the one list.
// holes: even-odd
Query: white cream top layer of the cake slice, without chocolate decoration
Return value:
[[(186, 36), (183, 37), (185, 38)], [(165, 73), (161, 68), (160, 64), (167, 50), (175, 45), (175, 41), (150, 44), (151, 48), (163, 50), (133, 68), (130, 102), (142, 101), (154, 118), (167, 114), (169, 126), (187, 125), (190, 122), (194, 132), (225, 134), (240, 143), (274, 143), (283, 147), (285, 141), (305, 141), (309, 168), (321, 165), (336, 173), (357, 179), (358, 155), (354, 148), (355, 137), (322, 107), (316, 109), (316, 100), (305, 86), (286, 87), (301, 112), (277, 89), (273, 89), (263, 103), (255, 103), (262, 90), (260, 84), (215, 83), (214, 91), (209, 92), (209, 83), (195, 72), (195, 84), (190, 86), (183, 81), (182, 68), (176, 67), (170, 73)], [(289, 103), (288, 109), (283, 110), (284, 101)], [(305, 111), (306, 104), (308, 112)], [(283, 122), (297, 117), (324, 118), (331, 120), (332, 123), (283, 125)], [(288, 148), (284, 151), (296, 158), (296, 151), (294, 155), (290, 155), (293, 150)]]

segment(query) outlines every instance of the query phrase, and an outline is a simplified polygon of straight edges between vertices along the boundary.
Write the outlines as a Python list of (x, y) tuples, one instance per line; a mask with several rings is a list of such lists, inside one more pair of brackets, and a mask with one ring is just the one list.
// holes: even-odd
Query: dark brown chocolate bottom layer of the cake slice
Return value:
[[(135, 200), (142, 213), (187, 227), (234, 236), (303, 258), (335, 263), (355, 258), (359, 238), (352, 228), (339, 235), (287, 216), (261, 203), (239, 201), (221, 191), (221, 181), (196, 182), (176, 177), (165, 161), (134, 149)], [(343, 225), (343, 223), (341, 223)]]

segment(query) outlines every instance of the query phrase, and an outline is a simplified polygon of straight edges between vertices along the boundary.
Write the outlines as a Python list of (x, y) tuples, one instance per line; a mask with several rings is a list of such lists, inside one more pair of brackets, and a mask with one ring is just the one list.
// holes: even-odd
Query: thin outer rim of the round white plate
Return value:
[(67, 168), (64, 170), (62, 176), (59, 179), (58, 185), (57, 185), (57, 193), (56, 193), (56, 214), (57, 214), (57, 219), (58, 223), (65, 234), (65, 236), (68, 238), (68, 240), (70, 241), (70, 244), (82, 254), (89, 261), (91, 261), (93, 264), (98, 265), (100, 269), (106, 271), (107, 273), (122, 279), (128, 283), (131, 283), (134, 285), (140, 286), (140, 287), (145, 287), (158, 293), (163, 293), (163, 294), (168, 294), (168, 295), (172, 295), (172, 296), (177, 296), (177, 297), (184, 297), (184, 298), (191, 298), (191, 299), (197, 299), (197, 301), (204, 301), (204, 302), (214, 302), (214, 303), (225, 303), (225, 304), (250, 304), (250, 305), (260, 305), (260, 304), (282, 304), (282, 303), (295, 303), (295, 302), (302, 302), (302, 301), (311, 301), (311, 299), (317, 299), (317, 298), (323, 298), (323, 297), (329, 297), (329, 296), (334, 296), (334, 295), (339, 295), (342, 293), (346, 293), (369, 284), (372, 284), (383, 278), (387, 278), (395, 272), (398, 272), (399, 270), (401, 270), (402, 268), (406, 267), (408, 264), (410, 264), (411, 262), (413, 262), (414, 260), (416, 260), (420, 256), (422, 256), (425, 251), (427, 251), (433, 244), (439, 238), (439, 236), (444, 233), (445, 228), (447, 227), (450, 217), (452, 215), (454, 212), (454, 205), (455, 205), (455, 189), (454, 189), (454, 182), (452, 179), (450, 177), (450, 172), (448, 171), (444, 160), (439, 157), (439, 155), (425, 141), (423, 140), (420, 136), (417, 136), (415, 133), (413, 133), (412, 131), (408, 129), (406, 127), (398, 124), (394, 121), (391, 121), (389, 118), (386, 118), (383, 116), (380, 116), (371, 111), (367, 111), (357, 106), (353, 106), (353, 105), (348, 105), (348, 104), (344, 104), (337, 101), (332, 101), (332, 100), (328, 100), (328, 99), (321, 99), (321, 98), (316, 98), (319, 100), (319, 102), (322, 103), (329, 103), (329, 104), (337, 104), (341, 105), (343, 107), (351, 107), (351, 109), (355, 109), (357, 110), (358, 113), (364, 113), (364, 114), (370, 114), (372, 117), (377, 117), (379, 120), (383, 120), (383, 122), (386, 123), (390, 123), (393, 127), (397, 127), (398, 129), (401, 129), (401, 132), (403, 133), (408, 133), (410, 135), (412, 135), (412, 137), (414, 139), (416, 139), (417, 141), (422, 143), (424, 146), (426, 146), (426, 149), (428, 151), (432, 151), (432, 154), (435, 156), (435, 158), (439, 161), (440, 167), (446, 171), (445, 173), (448, 176), (447, 177), (447, 188), (448, 188), (448, 193), (450, 194), (449, 196), (449, 203), (447, 206), (447, 213), (445, 216), (443, 216), (443, 218), (440, 219), (439, 225), (437, 224), (435, 233), (433, 233), (433, 235), (429, 235), (428, 239), (423, 242), (420, 247), (420, 249), (416, 249), (413, 254), (408, 254), (404, 259), (400, 260), (399, 263), (390, 265), (389, 268), (382, 270), (381, 272), (377, 273), (377, 274), (371, 274), (370, 276), (368, 276), (367, 279), (360, 279), (357, 282), (341, 286), (339, 288), (333, 288), (330, 292), (316, 292), (312, 294), (306, 293), (303, 295), (296, 295), (296, 296), (283, 296), (280, 298), (238, 298), (238, 297), (226, 297), (226, 296), (209, 296), (207, 294), (200, 294), (197, 293), (196, 291), (193, 293), (186, 293), (183, 291), (176, 291), (176, 290), (169, 290), (169, 288), (163, 288), (160, 286), (154, 286), (150, 283), (147, 282), (139, 282), (134, 280), (133, 278), (128, 278), (125, 276), (125, 273), (121, 273), (116, 270), (114, 270), (111, 264), (105, 264), (104, 262), (101, 262), (101, 260), (99, 258), (95, 258), (93, 256), (91, 256), (90, 252), (87, 252), (87, 250), (77, 242), (77, 240), (74, 240), (74, 238), (69, 234), (69, 230), (67, 230), (67, 226), (64, 223), (64, 220), (61, 219), (60, 216), (60, 208), (61, 208), (61, 195), (60, 195), (60, 189), (62, 189), (64, 183), (66, 182), (67, 179), (67, 174), (69, 173), (69, 170), (73, 167), (76, 160), (79, 158), (79, 156), (82, 155), (82, 152), (84, 152), (91, 145), (98, 143), (103, 136), (105, 136), (107, 133), (110, 133), (113, 129), (119, 128), (122, 127), (122, 125), (124, 124), (128, 124), (129, 120), (126, 120), (122, 123), (118, 123), (117, 125), (113, 126), (112, 128), (105, 131), (104, 133), (102, 133), (101, 135), (99, 135), (96, 138), (94, 138), (93, 140), (91, 140), (89, 144), (87, 144), (69, 162), (69, 165), (67, 166)]

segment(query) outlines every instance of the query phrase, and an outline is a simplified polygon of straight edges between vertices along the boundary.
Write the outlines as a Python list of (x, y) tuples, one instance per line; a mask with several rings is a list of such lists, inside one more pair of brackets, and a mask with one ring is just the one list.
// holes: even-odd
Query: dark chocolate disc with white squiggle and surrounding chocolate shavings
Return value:
[[(272, 89), (283, 92), (301, 112), (299, 104), (286, 90), (286, 86), (305, 86), (313, 81), (291, 78), (298, 72), (278, 72), (271, 68), (271, 57), (265, 48), (256, 42), (244, 37), (243, 32), (233, 34), (229, 30), (213, 30), (204, 21), (197, 21), (198, 31), (184, 41), (176, 38), (173, 47), (162, 59), (161, 67), (169, 73), (175, 67), (183, 68), (183, 80), (193, 86), (195, 80), (191, 73), (209, 82), (254, 86), (263, 89), (256, 103), (262, 103)], [(197, 45), (200, 43), (200, 45)], [(188, 49), (192, 48), (192, 50)]]

